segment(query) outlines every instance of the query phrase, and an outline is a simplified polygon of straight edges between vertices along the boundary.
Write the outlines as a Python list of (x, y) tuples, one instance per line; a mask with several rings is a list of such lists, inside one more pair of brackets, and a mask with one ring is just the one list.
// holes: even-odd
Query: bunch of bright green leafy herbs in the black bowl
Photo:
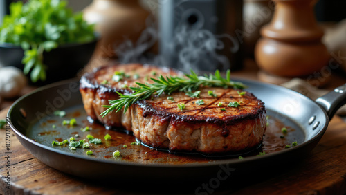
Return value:
[[(0, 42), (21, 46), (24, 73), (32, 82), (46, 80), (44, 52), (69, 43), (95, 39), (94, 25), (84, 21), (82, 12), (73, 13), (66, 1), (30, 0), (10, 4), (10, 15), (0, 26)], [(49, 65), (49, 64), (47, 64)]]

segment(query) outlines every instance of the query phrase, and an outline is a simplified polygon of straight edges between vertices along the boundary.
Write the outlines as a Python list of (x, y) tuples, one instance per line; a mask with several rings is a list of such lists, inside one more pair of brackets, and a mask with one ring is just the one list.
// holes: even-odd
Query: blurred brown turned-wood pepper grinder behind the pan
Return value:
[[(316, 72), (327, 66), (329, 53), (322, 44), (322, 29), (313, 15), (316, 0), (273, 0), (271, 23), (261, 29), (255, 46), (255, 60), (262, 68), (260, 80), (281, 84), (292, 77), (316, 80)], [(320, 79), (319, 85), (327, 81)], [(309, 81), (308, 81), (309, 82)]]

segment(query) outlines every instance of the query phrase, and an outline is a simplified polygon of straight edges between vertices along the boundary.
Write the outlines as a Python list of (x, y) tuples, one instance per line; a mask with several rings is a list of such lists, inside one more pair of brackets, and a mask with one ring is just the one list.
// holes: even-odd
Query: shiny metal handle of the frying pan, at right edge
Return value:
[(334, 91), (316, 99), (316, 102), (327, 112), (329, 120), (333, 118), (338, 109), (346, 104), (346, 84), (337, 87)]

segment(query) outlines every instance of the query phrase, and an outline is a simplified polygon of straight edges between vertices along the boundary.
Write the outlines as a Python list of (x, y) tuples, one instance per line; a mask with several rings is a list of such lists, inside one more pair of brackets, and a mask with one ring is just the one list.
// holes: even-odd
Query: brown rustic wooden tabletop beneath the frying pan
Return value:
[[(235, 73), (239, 77), (256, 79), (257, 69), (251, 62), (246, 70)], [(329, 87), (345, 83), (345, 78), (336, 75)], [(5, 118), (8, 108), (0, 112)], [(15, 120), (15, 119), (12, 119)], [(152, 185), (138, 186), (132, 183), (106, 182), (95, 176), (95, 180), (84, 180), (69, 176), (44, 165), (21, 146), (14, 133), (10, 133), (11, 190), (6, 190), (5, 130), (0, 130), (1, 158), (0, 194), (194, 194), (201, 183), (191, 183), (170, 188)], [(293, 167), (282, 167), (280, 173), (248, 180), (235, 187), (227, 180), (215, 190), (217, 194), (345, 194), (346, 193), (346, 123), (336, 116), (318, 146), (304, 160)], [(134, 178), (136, 180), (136, 178)], [(234, 178), (233, 178), (234, 179)]]

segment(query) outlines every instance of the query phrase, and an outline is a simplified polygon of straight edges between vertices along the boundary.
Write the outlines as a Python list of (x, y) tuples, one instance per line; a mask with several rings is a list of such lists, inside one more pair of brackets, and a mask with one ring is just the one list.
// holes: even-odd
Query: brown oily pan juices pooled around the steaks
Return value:
[[(300, 130), (298, 125), (290, 120), (277, 120), (278, 114), (271, 111), (268, 112), (268, 126), (262, 142), (262, 146), (252, 151), (244, 151), (242, 154), (215, 154), (204, 156), (191, 152), (170, 153), (167, 150), (161, 151), (145, 145), (137, 145), (136, 138), (131, 133), (123, 130), (108, 130), (102, 124), (90, 123), (86, 120), (86, 113), (82, 105), (75, 106), (66, 110), (66, 116), (59, 117), (48, 115), (46, 120), (41, 122), (33, 122), (27, 131), (28, 138), (39, 142), (42, 145), (53, 147), (62, 151), (69, 152), (73, 155), (88, 156), (86, 151), (93, 151), (93, 155), (89, 158), (116, 160), (134, 163), (168, 163), (168, 164), (185, 164), (185, 163), (206, 163), (218, 159), (239, 158), (242, 156), (255, 156), (258, 154), (270, 154), (275, 151), (286, 149), (286, 145), (292, 145), (298, 142), (298, 145), (304, 141), (304, 132)], [(77, 124), (75, 126), (63, 125), (63, 120), (71, 120), (75, 118)], [(43, 121), (43, 122), (42, 122)], [(81, 129), (89, 127), (89, 131), (83, 132)], [(282, 133), (282, 128), (287, 129), (287, 133)], [(62, 142), (73, 137), (76, 141), (87, 138), (90, 134), (94, 138), (100, 138), (101, 144), (90, 144), (89, 149), (78, 147), (75, 150), (69, 149), (69, 145), (52, 146), (53, 140)], [(105, 140), (104, 136), (109, 134), (111, 140)], [(288, 147), (288, 146), (287, 146)], [(120, 156), (113, 156), (114, 151), (120, 151)]]

